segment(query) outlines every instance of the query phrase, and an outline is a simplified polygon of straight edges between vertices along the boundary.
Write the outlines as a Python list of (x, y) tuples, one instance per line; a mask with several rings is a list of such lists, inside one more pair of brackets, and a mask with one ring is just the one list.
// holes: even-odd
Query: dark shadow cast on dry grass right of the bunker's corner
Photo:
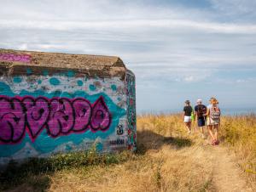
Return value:
[(160, 150), (164, 144), (169, 144), (177, 150), (189, 147), (193, 141), (182, 137), (165, 137), (149, 130), (137, 131), (138, 153), (144, 154), (147, 150)]

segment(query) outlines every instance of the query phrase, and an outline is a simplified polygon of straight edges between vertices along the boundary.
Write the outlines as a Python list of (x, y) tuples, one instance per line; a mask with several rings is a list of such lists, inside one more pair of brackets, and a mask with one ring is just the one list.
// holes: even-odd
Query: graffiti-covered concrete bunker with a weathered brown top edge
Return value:
[(118, 57), (0, 49), (0, 164), (136, 150), (135, 76)]

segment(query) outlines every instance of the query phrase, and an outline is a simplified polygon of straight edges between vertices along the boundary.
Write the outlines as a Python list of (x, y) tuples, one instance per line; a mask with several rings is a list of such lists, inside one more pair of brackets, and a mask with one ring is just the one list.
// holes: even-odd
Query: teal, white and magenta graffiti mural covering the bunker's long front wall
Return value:
[(118, 150), (121, 145), (110, 140), (119, 138), (120, 125), (119, 134), (125, 135), (124, 81), (77, 77), (72, 71), (55, 76), (28, 71), (0, 76), (0, 164), (86, 150), (95, 142), (102, 152)]

